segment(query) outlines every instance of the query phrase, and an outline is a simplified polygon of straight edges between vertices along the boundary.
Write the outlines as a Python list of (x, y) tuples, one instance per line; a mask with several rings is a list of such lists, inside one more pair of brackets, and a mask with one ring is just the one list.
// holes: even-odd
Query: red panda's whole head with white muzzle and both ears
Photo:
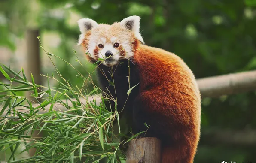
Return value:
[(97, 24), (91, 19), (78, 21), (81, 30), (79, 45), (82, 44), (90, 60), (104, 60), (106, 66), (113, 66), (120, 60), (134, 55), (136, 40), (143, 42), (139, 29), (140, 17), (131, 16), (121, 22)]

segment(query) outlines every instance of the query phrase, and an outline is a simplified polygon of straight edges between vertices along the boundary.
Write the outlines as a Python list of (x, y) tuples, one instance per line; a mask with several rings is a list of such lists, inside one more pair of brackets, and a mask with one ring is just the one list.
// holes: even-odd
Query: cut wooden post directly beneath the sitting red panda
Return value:
[(146, 137), (129, 142), (126, 163), (160, 163), (161, 141)]

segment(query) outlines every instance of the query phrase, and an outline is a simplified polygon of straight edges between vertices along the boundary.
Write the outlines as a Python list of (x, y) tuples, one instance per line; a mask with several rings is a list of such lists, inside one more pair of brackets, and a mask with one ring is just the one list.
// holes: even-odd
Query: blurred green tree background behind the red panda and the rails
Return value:
[[(25, 69), (25, 31), (38, 29), (46, 51), (86, 76), (93, 67), (76, 46), (76, 21), (112, 24), (130, 15), (141, 17), (146, 45), (179, 55), (196, 78), (256, 69), (256, 0), (0, 0), (0, 63)], [(40, 54), (42, 74), (52, 74)], [(55, 63), (72, 85), (82, 85), (66, 63)], [(256, 92), (202, 99), (201, 129), (195, 163), (256, 162)]]

